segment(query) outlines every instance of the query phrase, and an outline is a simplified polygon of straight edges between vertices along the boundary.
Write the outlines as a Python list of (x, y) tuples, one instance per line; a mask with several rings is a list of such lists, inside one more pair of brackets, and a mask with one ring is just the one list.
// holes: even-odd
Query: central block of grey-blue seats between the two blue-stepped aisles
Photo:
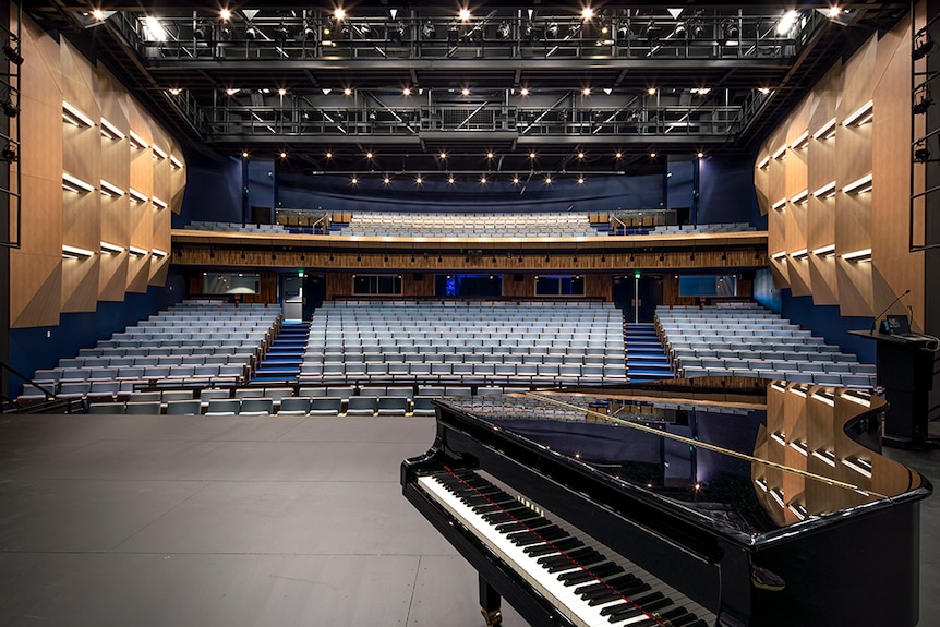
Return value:
[(303, 385), (625, 379), (620, 311), (580, 301), (328, 302), (314, 312), (300, 373)]

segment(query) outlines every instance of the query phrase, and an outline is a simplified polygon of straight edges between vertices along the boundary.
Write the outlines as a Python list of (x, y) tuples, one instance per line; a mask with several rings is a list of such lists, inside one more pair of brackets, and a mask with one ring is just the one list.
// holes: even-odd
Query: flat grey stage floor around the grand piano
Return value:
[[(411, 418), (4, 417), (0, 623), (482, 625), (474, 572), (398, 484), (433, 434)], [(890, 455), (940, 480), (940, 454)], [(940, 624), (937, 503), (920, 625)]]

